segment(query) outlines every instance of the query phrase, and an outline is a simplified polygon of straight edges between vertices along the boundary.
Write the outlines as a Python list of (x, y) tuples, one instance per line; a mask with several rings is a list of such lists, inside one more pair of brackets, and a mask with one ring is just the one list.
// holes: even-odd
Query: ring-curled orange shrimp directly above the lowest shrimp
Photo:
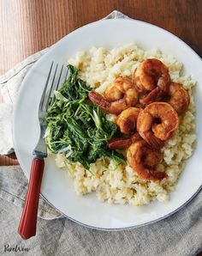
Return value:
[(137, 130), (140, 136), (154, 148), (161, 148), (178, 128), (179, 117), (166, 102), (153, 102), (140, 110)]

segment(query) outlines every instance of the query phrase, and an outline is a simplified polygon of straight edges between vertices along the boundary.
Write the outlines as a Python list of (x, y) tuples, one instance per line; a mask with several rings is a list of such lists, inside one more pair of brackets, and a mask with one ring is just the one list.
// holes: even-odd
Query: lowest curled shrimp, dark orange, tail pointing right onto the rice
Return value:
[(133, 143), (127, 152), (128, 164), (139, 174), (140, 178), (146, 180), (162, 180), (165, 173), (156, 170), (161, 161), (161, 153), (144, 140)]

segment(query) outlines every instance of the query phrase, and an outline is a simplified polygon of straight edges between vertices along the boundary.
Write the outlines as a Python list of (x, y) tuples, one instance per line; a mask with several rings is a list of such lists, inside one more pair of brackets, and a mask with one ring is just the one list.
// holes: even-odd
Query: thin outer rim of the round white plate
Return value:
[[(27, 78), (28, 76), (32, 73), (32, 71), (34, 70), (34, 68), (38, 65), (39, 63), (39, 60), (41, 60), (42, 58), (45, 58), (46, 55), (50, 54), (50, 52), (54, 51), (54, 49), (56, 48), (57, 45), (59, 45), (63, 40), (65, 40), (68, 36), (71, 36), (72, 34), (74, 33), (77, 33), (78, 31), (80, 31), (80, 29), (82, 29), (83, 27), (91, 27), (93, 26), (94, 24), (96, 23), (101, 23), (101, 22), (116, 22), (116, 21), (129, 21), (129, 22), (138, 22), (140, 24), (145, 24), (146, 26), (151, 26), (151, 27), (156, 27), (157, 29), (160, 29), (163, 31), (163, 33), (166, 33), (166, 34), (169, 34), (171, 35), (172, 37), (175, 37), (176, 40), (179, 40), (184, 46), (186, 46), (189, 50), (191, 50), (191, 52), (193, 53), (193, 55), (195, 55), (196, 58), (199, 58), (199, 61), (202, 62), (202, 58), (199, 56), (199, 54), (197, 52), (195, 52), (193, 50), (193, 48), (191, 46), (188, 46), (187, 43), (183, 40), (181, 40), (179, 37), (177, 37), (175, 34), (172, 34), (171, 32), (169, 32), (168, 30), (164, 29), (163, 27), (158, 27), (157, 25), (154, 25), (154, 24), (151, 24), (149, 22), (146, 22), (146, 21), (140, 21), (140, 20), (136, 20), (136, 19), (131, 19), (131, 18), (116, 18), (116, 19), (102, 19), (102, 20), (99, 20), (99, 21), (93, 21), (91, 23), (88, 23), (82, 27), (78, 27), (77, 29), (75, 29), (74, 31), (70, 32), (69, 34), (65, 35), (64, 37), (62, 37), (62, 39), (56, 41), (56, 43), (54, 43), (52, 46), (49, 47), (48, 51), (45, 52), (45, 54), (43, 56), (41, 56), (34, 64), (33, 66), (31, 67), (30, 70), (28, 70), (26, 76), (24, 77), (23, 81), (21, 82), (21, 87), (18, 91), (18, 94), (17, 94), (17, 98), (16, 98), (16, 101), (15, 101), (15, 106), (14, 106), (14, 113), (13, 113), (13, 126), (12, 126), (12, 137), (13, 137), (13, 142), (14, 142), (14, 149), (17, 148), (16, 145), (16, 141), (15, 141), (15, 118), (16, 118), (16, 106), (19, 104), (20, 102), (20, 99), (21, 99), (21, 92), (23, 91), (23, 88), (25, 87), (26, 83), (27, 83)], [(43, 50), (42, 50), (43, 51)], [(20, 163), (20, 166), (23, 166), (23, 164), (21, 165), (21, 161), (20, 161), (20, 158), (19, 158), (19, 155), (18, 155), (18, 152), (15, 152), (17, 158), (19, 159), (19, 163)], [(27, 179), (29, 180), (29, 174), (27, 174), (27, 172), (24, 170), (24, 168), (22, 168), (22, 171), (23, 173), (26, 175)], [(200, 190), (202, 189), (202, 184), (199, 186), (199, 188), (197, 189), (196, 192), (193, 193), (192, 197), (189, 198), (184, 204), (181, 204), (178, 208), (176, 208), (175, 210), (169, 212), (167, 215), (164, 215), (160, 218), (157, 218), (156, 220), (153, 220), (153, 221), (149, 221), (149, 222), (145, 222), (145, 223), (141, 223), (141, 224), (138, 224), (138, 225), (134, 225), (134, 226), (131, 226), (131, 227), (126, 227), (126, 228), (98, 228), (98, 227), (95, 227), (95, 226), (91, 226), (89, 224), (85, 224), (83, 222), (80, 222), (80, 221), (77, 221), (75, 220), (74, 218), (68, 216), (67, 214), (63, 213), (61, 210), (57, 209), (56, 206), (54, 206), (53, 204), (50, 203), (50, 201), (45, 198), (45, 196), (40, 192), (40, 196), (42, 198), (45, 199), (46, 202), (48, 202), (52, 207), (54, 207), (58, 212), (62, 213), (62, 216), (60, 216), (60, 218), (62, 218), (63, 216), (67, 217), (69, 220), (73, 221), (73, 222), (76, 222), (78, 224), (80, 224), (81, 226), (83, 227), (86, 227), (86, 228), (89, 228), (89, 229), (96, 229), (96, 230), (103, 230), (103, 231), (122, 231), (122, 230), (130, 230), (130, 229), (136, 229), (136, 228), (140, 228), (140, 227), (144, 227), (144, 226), (147, 226), (147, 225), (150, 225), (152, 223), (155, 223), (155, 222), (159, 222), (169, 216), (172, 216), (173, 214), (175, 214), (178, 210), (181, 210), (182, 208), (184, 208), (187, 204), (189, 204), (193, 198), (195, 198), (195, 196), (200, 192)]]

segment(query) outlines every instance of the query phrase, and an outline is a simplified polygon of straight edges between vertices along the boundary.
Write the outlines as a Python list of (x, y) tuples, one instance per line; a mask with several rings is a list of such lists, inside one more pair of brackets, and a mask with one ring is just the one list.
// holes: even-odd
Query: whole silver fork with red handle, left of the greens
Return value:
[[(23, 239), (28, 239), (34, 235), (36, 235), (36, 227), (37, 227), (37, 214), (38, 214), (38, 206), (39, 206), (39, 193), (41, 180), (44, 173), (45, 160), (47, 157), (47, 149), (45, 145), (45, 117), (47, 113), (47, 109), (50, 103), (53, 101), (53, 91), (57, 90), (61, 81), (62, 76), (62, 68), (59, 72), (59, 77), (56, 81), (56, 73), (57, 73), (58, 64), (56, 64), (55, 71), (53, 70), (53, 62), (50, 65), (49, 74), (47, 76), (45, 82), (45, 88), (43, 94), (41, 96), (41, 100), (39, 103), (39, 125), (40, 125), (40, 137), (39, 142), (37, 143), (35, 149), (33, 149), (33, 163), (30, 173), (30, 179), (27, 189), (27, 197), (25, 200), (24, 209), (21, 214), (21, 222), (18, 227), (18, 233), (21, 235)], [(50, 79), (50, 75), (53, 70), (53, 78)], [(67, 78), (67, 74), (65, 79)], [(49, 86), (50, 84), (50, 86)], [(54, 85), (56, 84), (55, 88)], [(48, 88), (50, 89), (48, 90)], [(51, 97), (52, 96), (52, 97)]]

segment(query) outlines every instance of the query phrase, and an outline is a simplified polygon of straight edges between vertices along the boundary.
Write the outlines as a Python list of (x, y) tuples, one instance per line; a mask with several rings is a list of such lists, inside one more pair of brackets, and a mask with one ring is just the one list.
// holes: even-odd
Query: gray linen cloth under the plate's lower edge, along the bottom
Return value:
[[(37, 235), (17, 234), (21, 209), (0, 199), (0, 255), (27, 256), (193, 256), (202, 250), (202, 192), (186, 207), (146, 227), (106, 232), (81, 227), (67, 218), (38, 220)], [(5, 247), (27, 252), (6, 253)]]

